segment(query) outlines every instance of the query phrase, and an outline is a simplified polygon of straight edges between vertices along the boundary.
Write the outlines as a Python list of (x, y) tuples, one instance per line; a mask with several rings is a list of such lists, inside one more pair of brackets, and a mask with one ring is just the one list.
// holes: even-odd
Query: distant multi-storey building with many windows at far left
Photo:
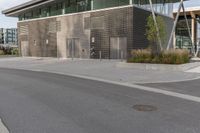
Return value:
[(17, 45), (18, 44), (17, 28), (0, 28), (0, 44), (1, 45)]

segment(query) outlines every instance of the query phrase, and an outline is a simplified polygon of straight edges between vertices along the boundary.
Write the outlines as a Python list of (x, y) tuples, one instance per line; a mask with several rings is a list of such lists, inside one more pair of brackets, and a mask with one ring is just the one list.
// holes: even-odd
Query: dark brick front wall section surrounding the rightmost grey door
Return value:
[(95, 38), (95, 42), (91, 45), (95, 46), (95, 56), (99, 58), (99, 51), (102, 51), (102, 58), (110, 57), (110, 37), (127, 37), (128, 45), (132, 40), (132, 8), (121, 8), (91, 13), (91, 17), (104, 16), (103, 29), (91, 29), (91, 37)]

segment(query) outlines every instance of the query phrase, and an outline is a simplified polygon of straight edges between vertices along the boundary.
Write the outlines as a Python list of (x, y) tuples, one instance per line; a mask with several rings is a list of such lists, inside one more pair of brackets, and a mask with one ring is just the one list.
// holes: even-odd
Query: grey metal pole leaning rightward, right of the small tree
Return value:
[(169, 42), (168, 42), (168, 45), (167, 45), (167, 50), (169, 50), (170, 48), (170, 45), (171, 45), (171, 42), (172, 42), (172, 39), (173, 39), (173, 34), (175, 32), (175, 29), (176, 29), (176, 25), (177, 25), (177, 22), (178, 22), (178, 18), (179, 18), (179, 15), (180, 15), (180, 11), (181, 11), (181, 8), (182, 8), (182, 5), (183, 5), (183, 0), (180, 1), (180, 5), (179, 5), (179, 8), (178, 8), (178, 12), (176, 14), (176, 19), (174, 21), (174, 25), (173, 25), (173, 28), (172, 28), (172, 32), (170, 34), (170, 38), (169, 38)]

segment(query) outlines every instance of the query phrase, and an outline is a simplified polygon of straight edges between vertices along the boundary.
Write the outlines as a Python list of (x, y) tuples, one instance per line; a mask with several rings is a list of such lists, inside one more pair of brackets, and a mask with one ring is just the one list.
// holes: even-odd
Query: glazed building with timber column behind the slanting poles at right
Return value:
[[(181, 11), (176, 26), (176, 48), (191, 49), (194, 45), (200, 45), (200, 7), (188, 7), (185, 9), (188, 26), (183, 11)], [(177, 11), (174, 11), (174, 15)], [(189, 27), (189, 28), (188, 28)], [(189, 29), (189, 30), (188, 30)]]

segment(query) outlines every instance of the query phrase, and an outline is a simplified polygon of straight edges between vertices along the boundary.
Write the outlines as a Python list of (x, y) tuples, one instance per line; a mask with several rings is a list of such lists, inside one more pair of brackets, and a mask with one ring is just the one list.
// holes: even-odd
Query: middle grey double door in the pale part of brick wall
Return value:
[(78, 38), (67, 39), (67, 57), (80, 58), (80, 43)]

